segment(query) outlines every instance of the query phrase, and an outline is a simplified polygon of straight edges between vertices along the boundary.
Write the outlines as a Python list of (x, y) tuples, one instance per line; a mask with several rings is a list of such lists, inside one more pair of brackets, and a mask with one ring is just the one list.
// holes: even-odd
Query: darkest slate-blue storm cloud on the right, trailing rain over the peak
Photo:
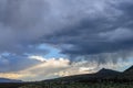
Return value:
[[(132, 54), (127, 53), (133, 47), (133, 13), (131, 11), (133, 2), (123, 0), (109, 2), (106, 6), (102, 13), (96, 12), (98, 15), (94, 18), (84, 16), (63, 31), (48, 36), (47, 42), (60, 44), (63, 54), (72, 56), (95, 55), (99, 61), (104, 63), (109, 61), (106, 53), (111, 53), (109, 54), (112, 56), (110, 59), (114, 59), (114, 62), (117, 57), (131, 56)], [(81, 18), (81, 15), (78, 16)]]

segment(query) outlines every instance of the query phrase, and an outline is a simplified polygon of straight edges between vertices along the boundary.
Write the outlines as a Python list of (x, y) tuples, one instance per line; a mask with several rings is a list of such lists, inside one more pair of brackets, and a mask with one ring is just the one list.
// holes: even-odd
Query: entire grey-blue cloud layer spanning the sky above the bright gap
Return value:
[(132, 52), (132, 0), (0, 0), (0, 52), (48, 43), (70, 56), (121, 56)]

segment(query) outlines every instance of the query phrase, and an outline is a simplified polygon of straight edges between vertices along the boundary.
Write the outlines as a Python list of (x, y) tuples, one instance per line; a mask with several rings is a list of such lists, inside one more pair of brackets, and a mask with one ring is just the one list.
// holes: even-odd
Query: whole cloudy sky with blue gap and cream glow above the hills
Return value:
[(0, 0), (0, 77), (43, 80), (133, 65), (132, 0)]

